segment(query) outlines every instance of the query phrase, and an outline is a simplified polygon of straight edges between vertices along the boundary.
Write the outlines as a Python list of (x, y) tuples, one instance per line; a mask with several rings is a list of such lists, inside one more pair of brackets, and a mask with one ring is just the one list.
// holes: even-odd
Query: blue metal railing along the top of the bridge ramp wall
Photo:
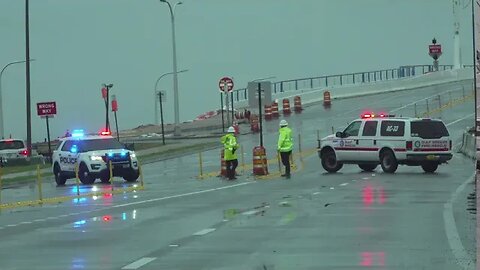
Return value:
[[(463, 65), (464, 68), (473, 65)], [(439, 65), (438, 70), (453, 69), (453, 65)], [(400, 66), (394, 69), (383, 69), (367, 72), (344, 73), (336, 75), (324, 75), (300, 79), (285, 80), (273, 83), (273, 94), (288, 91), (314, 89), (329, 86), (343, 86), (356, 83), (372, 83), (378, 81), (395, 80), (406, 77), (413, 77), (433, 72), (433, 65), (411, 65)], [(234, 102), (248, 100), (247, 88), (233, 90)]]

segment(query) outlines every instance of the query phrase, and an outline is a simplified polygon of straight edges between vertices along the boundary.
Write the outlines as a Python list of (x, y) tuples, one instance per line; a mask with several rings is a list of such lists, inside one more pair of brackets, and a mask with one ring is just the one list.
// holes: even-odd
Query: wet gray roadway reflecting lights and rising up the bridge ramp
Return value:
[[(455, 89), (461, 86), (334, 100), (328, 110), (311, 106), (287, 120), (308, 151), (317, 144), (317, 130), (325, 136), (365, 109), (413, 115), (409, 104)], [(457, 146), (474, 123), (473, 104), (437, 115)], [(270, 158), (277, 125), (266, 122), (264, 129)], [(239, 141), (250, 163), (258, 134)], [(3, 210), (0, 269), (475, 268), (474, 219), (462, 199), (472, 189), (471, 160), (455, 154), (431, 175), (406, 166), (394, 175), (379, 168), (362, 173), (354, 165), (326, 174), (311, 153), (304, 166), (297, 160), (290, 180), (255, 180), (249, 171), (234, 182), (198, 180), (198, 157), (190, 155), (144, 165), (145, 191)], [(205, 171), (219, 169), (219, 150), (203, 157)], [(278, 172), (273, 163), (272, 174)], [(71, 184), (45, 187), (45, 196), (75, 192)], [(36, 189), (3, 193), (7, 201), (20, 200), (34, 197)]]

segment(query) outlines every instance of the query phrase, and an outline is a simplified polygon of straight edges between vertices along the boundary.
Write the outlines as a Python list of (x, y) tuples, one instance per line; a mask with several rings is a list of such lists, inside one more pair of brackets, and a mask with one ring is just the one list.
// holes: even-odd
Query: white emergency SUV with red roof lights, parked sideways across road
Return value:
[(380, 164), (386, 173), (394, 173), (398, 165), (421, 166), (432, 173), (452, 159), (452, 140), (438, 119), (367, 113), (318, 143), (322, 167), (328, 172), (337, 172), (343, 164), (373, 171)]

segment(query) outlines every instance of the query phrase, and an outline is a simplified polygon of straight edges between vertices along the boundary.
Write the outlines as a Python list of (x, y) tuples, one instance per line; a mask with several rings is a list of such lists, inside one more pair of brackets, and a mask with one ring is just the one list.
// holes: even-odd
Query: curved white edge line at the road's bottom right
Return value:
[(457, 224), (455, 223), (455, 217), (453, 215), (452, 204), (474, 177), (475, 174), (461, 184), (452, 194), (450, 200), (443, 205), (443, 221), (445, 223), (445, 233), (447, 235), (448, 244), (450, 245), (453, 255), (457, 259), (457, 264), (460, 265), (464, 270), (473, 270), (475, 264), (473, 263), (473, 259), (465, 250), (462, 240), (460, 239), (460, 235), (458, 234)]

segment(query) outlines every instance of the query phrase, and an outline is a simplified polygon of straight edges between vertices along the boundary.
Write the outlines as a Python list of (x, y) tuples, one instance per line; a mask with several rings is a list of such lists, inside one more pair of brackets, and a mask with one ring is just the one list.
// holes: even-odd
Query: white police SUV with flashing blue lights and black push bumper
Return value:
[(123, 177), (128, 182), (138, 179), (140, 171), (135, 152), (125, 149), (109, 132), (85, 135), (82, 130), (75, 130), (70, 137), (60, 140), (52, 155), (57, 185), (64, 185), (67, 179), (75, 178), (77, 168), (78, 178), (83, 184), (92, 184), (97, 178), (108, 183), (110, 162), (113, 176)]

